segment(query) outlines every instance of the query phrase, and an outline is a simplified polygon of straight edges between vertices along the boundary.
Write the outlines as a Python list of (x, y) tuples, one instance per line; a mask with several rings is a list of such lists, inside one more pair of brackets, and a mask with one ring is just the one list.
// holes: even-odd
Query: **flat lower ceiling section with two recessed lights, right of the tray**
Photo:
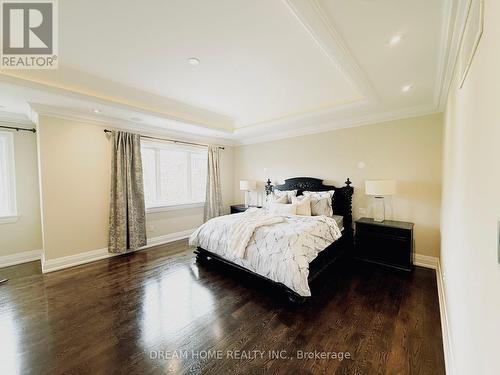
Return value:
[[(390, 108), (432, 103), (443, 0), (322, 0), (326, 13), (383, 103)], [(388, 43), (401, 35), (397, 46)], [(401, 88), (411, 84), (411, 95)]]

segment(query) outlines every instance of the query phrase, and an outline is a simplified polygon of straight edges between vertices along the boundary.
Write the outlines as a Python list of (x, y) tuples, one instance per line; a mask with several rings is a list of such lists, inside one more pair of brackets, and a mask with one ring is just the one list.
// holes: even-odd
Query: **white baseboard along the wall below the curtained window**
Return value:
[[(150, 238), (148, 239), (148, 244), (146, 246), (141, 247), (137, 251), (146, 250), (153, 246), (163, 245), (169, 242), (174, 242), (182, 240), (184, 238), (188, 238), (194, 231), (195, 229), (188, 229), (182, 232), (170, 233), (163, 236)], [(81, 264), (95, 262), (97, 260), (102, 260), (106, 258), (111, 258), (116, 255), (121, 255), (121, 254), (108, 253), (108, 249), (103, 248), (49, 260), (45, 260), (42, 257), (42, 272), (48, 273), (48, 272), (58, 271), (64, 268), (79, 266)]]

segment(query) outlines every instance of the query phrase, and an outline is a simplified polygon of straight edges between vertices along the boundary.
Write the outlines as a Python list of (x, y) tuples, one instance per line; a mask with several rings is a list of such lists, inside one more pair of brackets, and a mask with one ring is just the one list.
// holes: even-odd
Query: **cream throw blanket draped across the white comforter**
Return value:
[(283, 216), (271, 215), (258, 208), (249, 208), (229, 229), (228, 251), (236, 258), (244, 258), (248, 241), (257, 228), (281, 223), (283, 220)]

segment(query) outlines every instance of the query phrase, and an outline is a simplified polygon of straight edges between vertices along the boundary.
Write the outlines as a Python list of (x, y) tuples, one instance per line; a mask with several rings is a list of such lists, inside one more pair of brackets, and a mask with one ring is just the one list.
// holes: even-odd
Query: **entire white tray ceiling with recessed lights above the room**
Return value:
[(0, 105), (238, 142), (430, 113), (450, 1), (61, 1), (60, 68), (2, 71)]

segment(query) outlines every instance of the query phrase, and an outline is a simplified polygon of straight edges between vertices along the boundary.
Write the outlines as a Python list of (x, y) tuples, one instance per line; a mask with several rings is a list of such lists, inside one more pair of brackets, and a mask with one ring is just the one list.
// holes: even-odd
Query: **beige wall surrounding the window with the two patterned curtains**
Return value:
[[(39, 148), (45, 259), (107, 246), (111, 145), (103, 127), (41, 116)], [(232, 184), (232, 149), (223, 152), (222, 182)], [(225, 206), (232, 189), (223, 191)], [(148, 238), (194, 229), (203, 208), (148, 214)]]

